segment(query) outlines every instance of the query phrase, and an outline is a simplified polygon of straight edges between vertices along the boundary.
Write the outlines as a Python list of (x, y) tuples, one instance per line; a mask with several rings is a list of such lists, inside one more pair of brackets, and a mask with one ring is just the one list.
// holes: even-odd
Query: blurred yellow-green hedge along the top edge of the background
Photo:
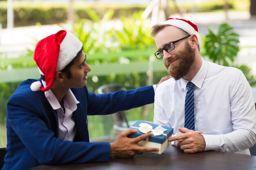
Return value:
[[(177, 4), (181, 12), (209, 12), (213, 10), (223, 9), (223, 0), (202, 1), (200, 3), (185, 2)], [(228, 0), (229, 8), (234, 10), (249, 11), (249, 0)], [(56, 24), (63, 23), (67, 20), (67, 9), (69, 4), (67, 2), (51, 2), (51, 1), (13, 1), (14, 26), (28, 26), (41, 24)], [(94, 10), (102, 17), (106, 11), (112, 9), (115, 11), (113, 18), (120, 18), (122, 16), (130, 16), (136, 11), (146, 9), (144, 5), (127, 5), (127, 4), (113, 4), (103, 2), (88, 2), (77, 1), (74, 2), (74, 11), (79, 15), (79, 18), (90, 19), (88, 10)], [(175, 5), (169, 3), (168, 13), (178, 13)], [(0, 23), (3, 28), (7, 26), (7, 1), (0, 1)]]

